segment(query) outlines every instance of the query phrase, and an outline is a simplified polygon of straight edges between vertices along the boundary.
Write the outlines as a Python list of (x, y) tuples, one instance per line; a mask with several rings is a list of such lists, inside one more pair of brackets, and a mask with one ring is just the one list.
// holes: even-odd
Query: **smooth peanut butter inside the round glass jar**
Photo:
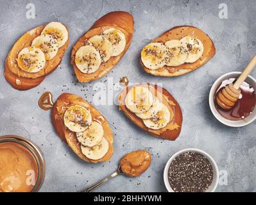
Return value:
[(14, 142), (0, 143), (0, 192), (30, 192), (37, 173), (37, 162), (28, 149)]

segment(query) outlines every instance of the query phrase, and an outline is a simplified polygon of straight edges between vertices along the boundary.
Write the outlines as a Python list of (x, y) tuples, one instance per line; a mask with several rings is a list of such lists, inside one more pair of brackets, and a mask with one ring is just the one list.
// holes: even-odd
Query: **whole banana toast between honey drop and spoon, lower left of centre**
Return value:
[(74, 94), (62, 94), (51, 112), (56, 132), (82, 160), (110, 160), (113, 135), (107, 119), (89, 102)]

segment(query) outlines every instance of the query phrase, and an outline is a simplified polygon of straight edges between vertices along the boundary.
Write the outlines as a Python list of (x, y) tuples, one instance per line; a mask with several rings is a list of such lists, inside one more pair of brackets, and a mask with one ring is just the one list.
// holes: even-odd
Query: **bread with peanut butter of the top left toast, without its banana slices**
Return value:
[(56, 56), (51, 60), (47, 60), (44, 69), (40, 70), (39, 72), (26, 72), (18, 67), (16, 59), (19, 52), (24, 47), (30, 46), (32, 41), (41, 35), (45, 26), (46, 25), (38, 26), (37, 28), (31, 29), (30, 31), (24, 33), (24, 35), (22, 35), (19, 40), (15, 42), (11, 51), (6, 57), (4, 76), (6, 81), (8, 81), (13, 88), (17, 90), (28, 90), (39, 85), (47, 75), (51, 74), (51, 72), (53, 72), (58, 65), (60, 65), (62, 57), (67, 50), (69, 38), (67, 42), (65, 42), (65, 44), (58, 49)]

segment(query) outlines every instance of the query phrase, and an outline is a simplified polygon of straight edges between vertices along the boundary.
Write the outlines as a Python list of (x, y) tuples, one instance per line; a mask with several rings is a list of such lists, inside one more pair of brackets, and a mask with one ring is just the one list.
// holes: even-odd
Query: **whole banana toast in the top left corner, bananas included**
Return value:
[(18, 90), (39, 85), (58, 67), (68, 44), (69, 33), (60, 22), (50, 22), (24, 33), (6, 57), (6, 80)]

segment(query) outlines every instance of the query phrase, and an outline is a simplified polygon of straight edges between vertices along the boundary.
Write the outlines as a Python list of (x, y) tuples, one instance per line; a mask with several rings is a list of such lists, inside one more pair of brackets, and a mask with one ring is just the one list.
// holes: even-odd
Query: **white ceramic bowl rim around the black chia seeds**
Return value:
[(207, 158), (207, 160), (210, 161), (210, 164), (212, 165), (212, 170), (213, 170), (214, 176), (213, 176), (212, 184), (210, 184), (210, 186), (209, 186), (208, 190), (206, 190), (206, 192), (214, 192), (219, 183), (219, 169), (216, 165), (216, 162), (209, 154), (207, 154), (207, 152), (201, 151), (200, 149), (193, 149), (193, 148), (182, 149), (181, 151), (178, 151), (175, 154), (173, 154), (173, 156), (171, 156), (171, 158), (167, 161), (166, 167), (164, 168), (164, 184), (166, 185), (167, 191), (174, 192), (169, 184), (169, 181), (168, 181), (168, 170), (171, 165), (171, 162), (176, 158), (176, 156), (179, 156), (180, 154), (183, 154), (184, 152), (200, 153), (203, 156), (205, 156), (205, 158)]

